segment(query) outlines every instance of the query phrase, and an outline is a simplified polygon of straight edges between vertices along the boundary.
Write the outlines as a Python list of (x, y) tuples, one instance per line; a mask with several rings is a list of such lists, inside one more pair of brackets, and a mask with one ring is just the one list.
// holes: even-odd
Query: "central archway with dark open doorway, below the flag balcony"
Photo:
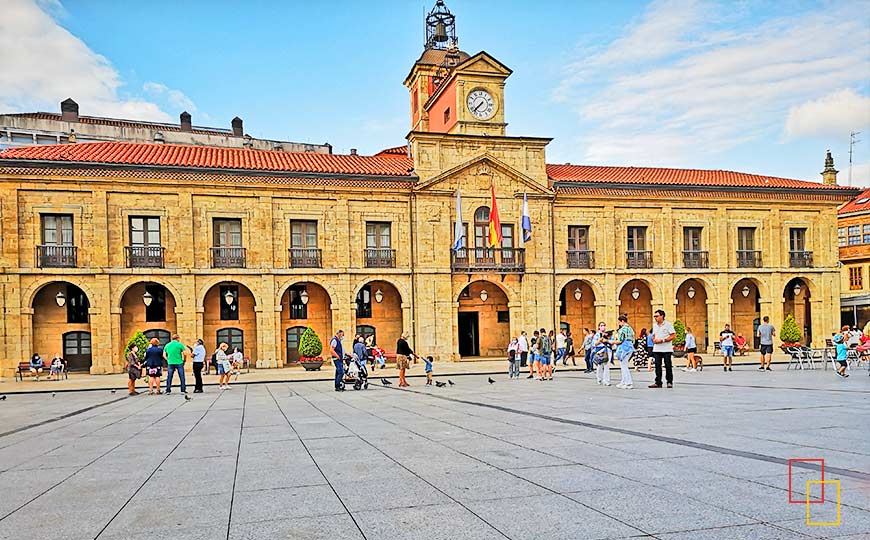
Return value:
[(489, 281), (469, 283), (459, 293), (459, 356), (503, 357), (510, 343), (508, 297)]

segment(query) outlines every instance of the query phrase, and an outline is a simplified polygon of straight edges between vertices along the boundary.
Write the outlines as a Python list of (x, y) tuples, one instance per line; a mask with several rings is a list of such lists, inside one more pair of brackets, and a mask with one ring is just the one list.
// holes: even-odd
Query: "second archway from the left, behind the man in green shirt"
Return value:
[[(145, 337), (168, 342), (177, 331), (175, 297), (159, 283), (140, 282), (121, 296), (121, 335), (116, 345), (117, 362), (123, 361), (124, 348), (137, 330)], [(189, 336), (192, 341), (193, 336)]]

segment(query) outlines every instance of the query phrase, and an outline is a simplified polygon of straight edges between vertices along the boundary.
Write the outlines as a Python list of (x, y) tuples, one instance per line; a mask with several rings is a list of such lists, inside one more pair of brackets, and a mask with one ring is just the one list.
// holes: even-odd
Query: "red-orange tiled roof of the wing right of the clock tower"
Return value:
[(657, 167), (601, 167), (594, 165), (547, 165), (547, 176), (555, 182), (583, 182), (608, 184), (649, 184), (664, 186), (713, 187), (765, 187), (789, 189), (843, 189), (806, 180), (792, 180), (775, 176), (738, 173), (733, 171), (706, 171), (699, 169), (664, 169)]

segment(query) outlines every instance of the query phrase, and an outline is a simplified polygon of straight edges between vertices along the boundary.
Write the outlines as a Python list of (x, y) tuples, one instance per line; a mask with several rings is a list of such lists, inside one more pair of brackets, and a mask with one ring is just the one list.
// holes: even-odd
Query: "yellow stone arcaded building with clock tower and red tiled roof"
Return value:
[[(376, 155), (0, 152), (3, 373), (34, 351), (121, 371), (135, 330), (226, 341), (277, 367), (298, 360), (309, 325), (388, 351), (406, 330), (444, 361), (503, 357), (522, 330), (578, 333), (619, 313), (639, 331), (658, 308), (711, 348), (725, 323), (754, 335), (763, 315), (779, 327), (795, 314), (815, 345), (839, 323), (837, 208), (858, 190), (830, 175), (547, 164), (550, 139), (506, 132), (510, 69), (426, 43), (405, 79), (406, 144)], [(457, 193), (465, 241), (452, 250)]]

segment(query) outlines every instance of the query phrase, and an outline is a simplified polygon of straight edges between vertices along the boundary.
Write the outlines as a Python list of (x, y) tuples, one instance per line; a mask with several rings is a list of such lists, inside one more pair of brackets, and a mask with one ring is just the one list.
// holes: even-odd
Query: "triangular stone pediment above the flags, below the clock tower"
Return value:
[(541, 183), (487, 153), (417, 183), (414, 191), (455, 191), (456, 189), (480, 191), (489, 189), (490, 182), (495, 182), (496, 190), (552, 194), (546, 180)]

